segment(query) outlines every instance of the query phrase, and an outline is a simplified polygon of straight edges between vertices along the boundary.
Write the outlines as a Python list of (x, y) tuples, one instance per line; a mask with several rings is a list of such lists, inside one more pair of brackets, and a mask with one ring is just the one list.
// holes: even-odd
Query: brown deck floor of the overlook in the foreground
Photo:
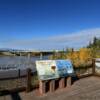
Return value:
[(74, 82), (71, 87), (57, 89), (40, 96), (38, 90), (0, 96), (0, 100), (100, 100), (100, 77), (86, 77)]

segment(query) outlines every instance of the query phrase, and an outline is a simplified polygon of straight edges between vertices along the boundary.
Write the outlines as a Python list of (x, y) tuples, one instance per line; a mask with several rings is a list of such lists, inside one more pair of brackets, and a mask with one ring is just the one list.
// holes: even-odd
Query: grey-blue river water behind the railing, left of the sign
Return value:
[[(43, 56), (46, 60), (49, 56)], [(25, 56), (3, 56), (0, 57), (0, 79), (18, 77), (26, 74), (26, 68), (31, 68), (32, 72), (36, 71), (35, 61), (40, 60), (40, 56), (25, 57)]]

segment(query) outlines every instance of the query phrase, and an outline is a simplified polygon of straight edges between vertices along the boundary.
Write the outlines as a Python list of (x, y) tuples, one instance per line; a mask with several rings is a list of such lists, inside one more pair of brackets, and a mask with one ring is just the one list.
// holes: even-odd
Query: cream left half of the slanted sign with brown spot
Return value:
[(59, 77), (54, 60), (36, 61), (36, 68), (39, 79), (41, 80), (54, 79)]

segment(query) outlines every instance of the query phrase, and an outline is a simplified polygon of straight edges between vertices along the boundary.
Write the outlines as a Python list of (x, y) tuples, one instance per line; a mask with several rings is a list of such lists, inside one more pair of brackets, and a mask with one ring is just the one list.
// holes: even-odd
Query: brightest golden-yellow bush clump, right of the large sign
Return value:
[(71, 59), (75, 67), (89, 66), (92, 58), (91, 49), (81, 48), (79, 51), (73, 51), (67, 54), (67, 58)]

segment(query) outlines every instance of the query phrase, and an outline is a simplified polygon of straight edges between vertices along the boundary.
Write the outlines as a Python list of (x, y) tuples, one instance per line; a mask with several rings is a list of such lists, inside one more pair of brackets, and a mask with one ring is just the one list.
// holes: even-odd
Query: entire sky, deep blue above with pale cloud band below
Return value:
[(81, 48), (100, 37), (100, 0), (0, 0), (0, 48)]

